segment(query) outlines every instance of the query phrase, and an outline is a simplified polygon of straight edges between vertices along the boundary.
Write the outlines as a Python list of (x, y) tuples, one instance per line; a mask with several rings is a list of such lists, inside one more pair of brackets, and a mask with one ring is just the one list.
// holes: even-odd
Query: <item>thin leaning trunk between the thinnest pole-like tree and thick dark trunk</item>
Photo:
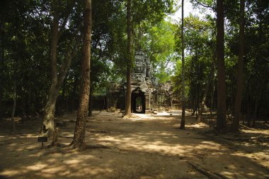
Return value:
[(215, 58), (216, 58), (216, 54), (214, 53), (213, 58), (212, 58), (210, 75), (208, 76), (208, 80), (207, 80), (207, 86), (205, 87), (205, 93), (202, 97), (202, 102), (200, 103), (200, 110), (198, 111), (198, 122), (200, 122), (202, 119), (202, 112), (205, 109), (205, 100), (207, 99), (207, 94), (210, 91), (210, 85), (213, 80)]

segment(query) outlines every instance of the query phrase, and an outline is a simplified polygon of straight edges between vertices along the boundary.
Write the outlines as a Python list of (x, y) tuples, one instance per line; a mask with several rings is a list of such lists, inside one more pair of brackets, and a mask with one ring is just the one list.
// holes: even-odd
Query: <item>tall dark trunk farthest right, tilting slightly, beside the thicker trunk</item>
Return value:
[(234, 105), (234, 120), (231, 124), (231, 131), (239, 130), (239, 121), (241, 119), (241, 101), (243, 92), (243, 58), (244, 58), (244, 13), (245, 0), (240, 0), (240, 26), (239, 26), (239, 57), (237, 67), (236, 101)]

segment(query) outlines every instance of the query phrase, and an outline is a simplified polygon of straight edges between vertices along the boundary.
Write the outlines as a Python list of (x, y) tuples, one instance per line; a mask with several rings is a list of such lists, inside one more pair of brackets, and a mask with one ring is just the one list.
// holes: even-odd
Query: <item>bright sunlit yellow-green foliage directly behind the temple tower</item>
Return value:
[(170, 21), (152, 25), (143, 21), (136, 31), (136, 48), (147, 53), (159, 82), (167, 82), (176, 63), (175, 26)]

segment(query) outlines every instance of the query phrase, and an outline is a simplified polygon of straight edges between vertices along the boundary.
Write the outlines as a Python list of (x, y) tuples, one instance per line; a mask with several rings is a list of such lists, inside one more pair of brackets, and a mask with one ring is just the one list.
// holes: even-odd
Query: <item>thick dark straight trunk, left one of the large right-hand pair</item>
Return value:
[(224, 64), (224, 5), (217, 0), (217, 129), (226, 127), (226, 85)]

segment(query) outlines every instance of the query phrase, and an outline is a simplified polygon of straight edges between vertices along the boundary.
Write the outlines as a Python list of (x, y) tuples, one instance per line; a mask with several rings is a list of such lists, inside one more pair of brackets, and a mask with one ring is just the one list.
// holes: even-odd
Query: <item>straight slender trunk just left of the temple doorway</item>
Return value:
[(131, 0), (127, 0), (127, 89), (125, 98), (125, 116), (131, 115), (131, 83), (132, 83), (132, 14)]

